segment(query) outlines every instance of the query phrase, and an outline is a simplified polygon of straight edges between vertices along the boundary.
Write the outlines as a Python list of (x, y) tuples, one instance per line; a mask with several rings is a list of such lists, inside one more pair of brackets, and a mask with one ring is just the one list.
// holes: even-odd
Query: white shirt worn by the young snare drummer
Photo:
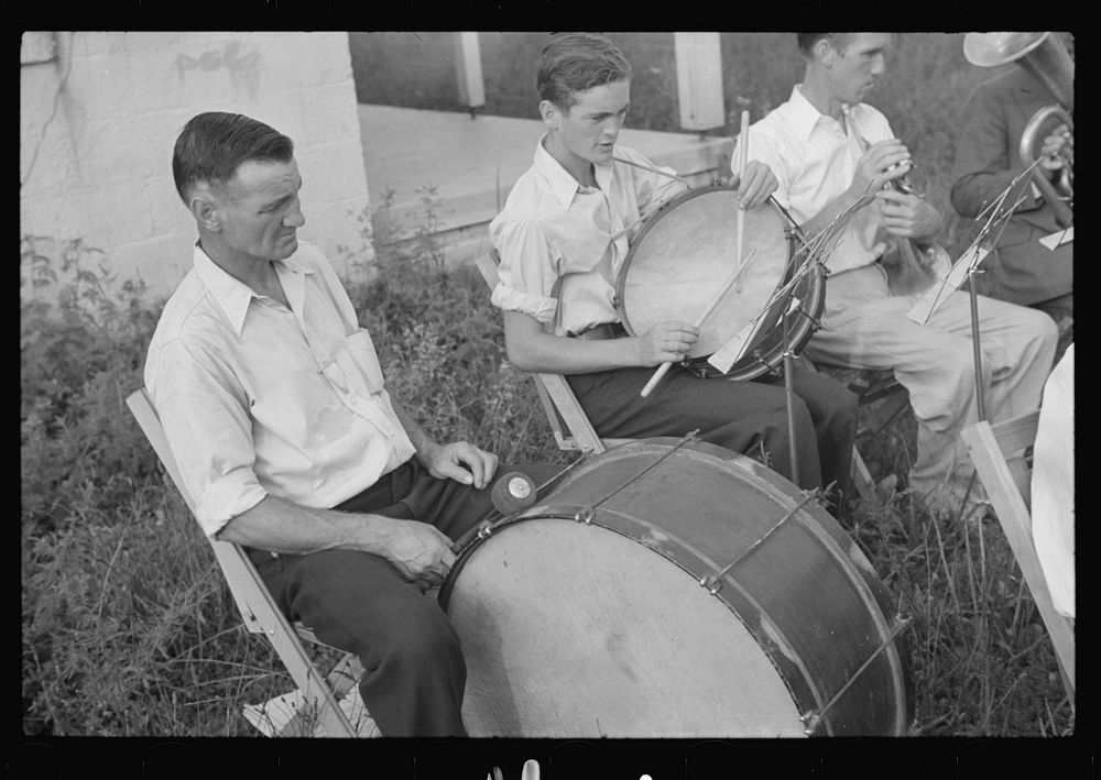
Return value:
[[(625, 146), (615, 146), (614, 156), (676, 174)], [(619, 321), (615, 278), (630, 239), (642, 219), (687, 189), (678, 179), (614, 160), (595, 165), (593, 173), (598, 186), (582, 187), (539, 139), (532, 167), (489, 226), (501, 254), (493, 304), (554, 323), (558, 336)]]

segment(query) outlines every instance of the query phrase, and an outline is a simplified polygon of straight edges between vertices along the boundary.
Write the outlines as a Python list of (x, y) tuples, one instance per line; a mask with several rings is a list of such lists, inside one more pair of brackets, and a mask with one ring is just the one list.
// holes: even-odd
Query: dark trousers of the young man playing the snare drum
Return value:
[(639, 392), (653, 369), (573, 374), (566, 380), (601, 437), (679, 437), (699, 429), (701, 440), (755, 458), (788, 480), (798, 459), (799, 487), (825, 487), (836, 481), (835, 498), (843, 499), (852, 471), (857, 396), (802, 361), (793, 366), (794, 453), (783, 378), (701, 380), (674, 367), (646, 398)]

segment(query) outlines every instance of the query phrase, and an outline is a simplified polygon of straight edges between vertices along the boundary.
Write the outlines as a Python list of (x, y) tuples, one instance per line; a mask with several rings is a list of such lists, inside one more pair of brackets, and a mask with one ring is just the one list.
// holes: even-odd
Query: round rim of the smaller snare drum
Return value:
[[(673, 198), (669, 198), (669, 200), (663, 204), (654, 213), (652, 213), (650, 217), (645, 219), (642, 228), (639, 230), (639, 233), (634, 237), (634, 240), (631, 242), (631, 246), (630, 249), (628, 249), (626, 256), (623, 259), (623, 264), (620, 266), (619, 273), (615, 276), (615, 312), (619, 315), (620, 321), (623, 323), (623, 327), (626, 329), (630, 336), (636, 337), (639, 336), (639, 333), (631, 325), (630, 317), (628, 316), (624, 293), (626, 292), (626, 276), (631, 267), (632, 260), (634, 259), (635, 252), (637, 251), (637, 248), (642, 245), (646, 235), (654, 228), (654, 226), (657, 224), (657, 222), (659, 222), (666, 216), (675, 211), (677, 207), (701, 195), (709, 195), (716, 191), (737, 193), (738, 188), (731, 187), (730, 185), (711, 184), (688, 189), (684, 193), (674, 196)], [(766, 201), (766, 204), (781, 218), (781, 221), (783, 223), (786, 223), (785, 220), (787, 218), (784, 216), (783, 211), (776, 206), (776, 204), (773, 202), (772, 200)], [(789, 281), (792, 276), (796, 273), (797, 268), (800, 267), (799, 265), (796, 265), (795, 263), (792, 262), (798, 253), (794, 230), (792, 230), (789, 227), (785, 227), (784, 232), (787, 241), (788, 270), (787, 273), (784, 274), (780, 284), (785, 284), (787, 281)], [(808, 260), (804, 260), (803, 262), (806, 263), (808, 262)], [(811, 311), (809, 314), (804, 312), (805, 316), (798, 318), (798, 321), (795, 323), (793, 330), (788, 333), (789, 344), (793, 352), (798, 352), (799, 350), (802, 350), (803, 347), (806, 345), (806, 342), (810, 340), (810, 337), (814, 334), (814, 331), (817, 330), (818, 328), (817, 320), (821, 316), (822, 309), (825, 309), (826, 307), (826, 274), (820, 267), (811, 268), (808, 273), (809, 273), (808, 284), (810, 285), (808, 298), (810, 299), (809, 303)], [(789, 299), (791, 296), (787, 298), (787, 300)], [(701, 378), (708, 378), (715, 376), (715, 377), (723, 377), (730, 380), (752, 380), (757, 376), (761, 376), (765, 372), (774, 371), (776, 365), (780, 363), (780, 356), (783, 351), (784, 351), (783, 344), (780, 344), (777, 348), (771, 349), (765, 355), (762, 355), (761, 358), (755, 358), (754, 355), (752, 355), (752, 353), (748, 353), (738, 363), (730, 366), (730, 369), (726, 372), (718, 371), (717, 369), (711, 366), (710, 363), (707, 362), (708, 358), (710, 358), (712, 353), (689, 358), (685, 361), (685, 363), (688, 365), (698, 366), (699, 370), (696, 373)]]

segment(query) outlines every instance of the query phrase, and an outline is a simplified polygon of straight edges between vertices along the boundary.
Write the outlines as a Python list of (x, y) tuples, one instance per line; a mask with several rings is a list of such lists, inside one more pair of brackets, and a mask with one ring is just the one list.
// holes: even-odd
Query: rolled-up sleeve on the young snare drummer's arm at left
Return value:
[(495, 226), (492, 239), (501, 254), (493, 305), (531, 315), (544, 325), (553, 321), (558, 308), (554, 297), (558, 261), (538, 222), (504, 222)]

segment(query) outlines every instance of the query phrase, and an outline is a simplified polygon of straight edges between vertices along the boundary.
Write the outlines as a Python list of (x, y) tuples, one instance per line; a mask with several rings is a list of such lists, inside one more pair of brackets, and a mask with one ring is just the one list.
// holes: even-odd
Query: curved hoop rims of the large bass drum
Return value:
[[(609, 449), (602, 453), (593, 453), (587, 457), (590, 461), (589, 463), (582, 463), (579, 469), (571, 471), (565, 476), (565, 479), (556, 484), (556, 488), (568, 486), (582, 476), (591, 474), (600, 463), (607, 462), (608, 457), (612, 457), (614, 462), (614, 460), (626, 458), (635, 453), (643, 454), (648, 453), (648, 451), (652, 450), (656, 451), (661, 448), (668, 448), (676, 441), (678, 440), (667, 437), (642, 439), (620, 444), (619, 447)], [(700, 444), (704, 447), (699, 447)], [(639, 450), (642, 450), (642, 452), (636, 452)], [(798, 487), (785, 480), (782, 475), (767, 469), (766, 466), (761, 465), (746, 455), (699, 441), (691, 442), (691, 444), (685, 447), (682, 452), (720, 470), (729, 471), (732, 468), (744, 468), (746, 472), (744, 474), (746, 481), (751, 482), (757, 490), (761, 490), (765, 493), (765, 495), (776, 501), (777, 505), (781, 507), (786, 506), (785, 502), (798, 502), (804, 495)], [(739, 463), (741, 466), (738, 465)], [(796, 496), (799, 496), (799, 498), (796, 498)], [(522, 513), (502, 518), (494, 525), (491, 532), (483, 537), (475, 537), (462, 550), (460, 550), (451, 571), (445, 579), (437, 595), (440, 608), (445, 613), (447, 612), (447, 606), (450, 601), (450, 594), (455, 587), (455, 583), (458, 581), (462, 569), (469, 562), (470, 556), (472, 556), (477, 549), (486, 543), (487, 540), (498, 530), (522, 524), (526, 520), (564, 519), (577, 521), (578, 512), (587, 508), (569, 502), (554, 503), (549, 499), (553, 499), (553, 496), (547, 496), (547, 499), (536, 503), (534, 506), (528, 507)], [(891, 616), (884, 608), (884, 602), (876, 595), (875, 589), (879, 587), (887, 595), (890, 595), (890, 593), (886, 591), (886, 586), (877, 579), (874, 570), (871, 572), (865, 571), (864, 568), (853, 560), (851, 554), (848, 552), (843, 540), (847, 540), (850, 545), (855, 545), (855, 540), (840, 527), (837, 520), (833, 519), (829, 513), (814, 502), (809, 502), (806, 506), (802, 507), (797, 513), (797, 516), (799, 515), (803, 516), (802, 525), (804, 529), (817, 539), (819, 546), (838, 562), (838, 565), (846, 573), (847, 579), (851, 582), (853, 590), (859, 593), (861, 603), (872, 616), (872, 622), (876, 625), (879, 640), (885, 640), (892, 630), (892, 620)], [(682, 560), (683, 557), (691, 558), (695, 562), (700, 564), (700, 571), (713, 572), (718, 568), (716, 565), (717, 562), (712, 561), (706, 552), (695, 549), (694, 546), (682, 539), (673, 530), (653, 526), (653, 524), (648, 523), (645, 518), (634, 517), (613, 508), (602, 509), (598, 506), (591, 510), (590, 518), (585, 521), (591, 523), (591, 525), (596, 525), (606, 530), (620, 534), (621, 536), (625, 536), (636, 543), (644, 545), (653, 552), (680, 568), (694, 579), (698, 578), (699, 572), (685, 565)], [(658, 530), (661, 530), (661, 532), (668, 538), (668, 541), (661, 546), (645, 543), (641, 540), (641, 535), (628, 532), (624, 526), (635, 529), (650, 527), (658, 528)], [(663, 549), (665, 546), (675, 546), (682, 552), (682, 557), (678, 558), (669, 554), (665, 549)], [(722, 583), (723, 587), (720, 589), (718, 594), (716, 594), (716, 597), (719, 597), (735, 619), (741, 622), (754, 639), (759, 640), (762, 650), (765, 652), (773, 668), (776, 670), (776, 673), (787, 688), (789, 694), (792, 695), (792, 700), (795, 702), (799, 711), (803, 713), (819, 712), (832, 693), (820, 690), (820, 681), (814, 678), (810, 670), (806, 667), (805, 660), (794, 651), (791, 644), (786, 640), (785, 627), (776, 624), (773, 617), (756, 601), (753, 594), (746, 591), (729, 573), (722, 578)], [(726, 594), (723, 594), (723, 591), (726, 591)], [(754, 628), (753, 625), (751, 625), (751, 622), (739, 613), (738, 607), (740, 605), (732, 603), (731, 594), (737, 594), (735, 602), (741, 602), (753, 611), (753, 616), (762, 626), (764, 620), (767, 619), (768, 624), (775, 631), (774, 636), (768, 637), (768, 640), (772, 642), (771, 645), (768, 642), (761, 641), (762, 629), (760, 627)], [(781, 646), (777, 641), (777, 638), (780, 637), (785, 637), (783, 646)], [(893, 669), (891, 679), (895, 685), (894, 697), (895, 701), (898, 702), (898, 705), (894, 707), (898, 716), (898, 721), (894, 724), (894, 733), (896, 735), (903, 735), (907, 727), (908, 719), (913, 716), (914, 702), (909, 681), (909, 662), (906, 653), (903, 652), (903, 648), (906, 647), (906, 644), (905, 641), (898, 641), (898, 639), (901, 639), (901, 637), (891, 640), (889, 646), (883, 650), (883, 653), (886, 656), (885, 661)], [(796, 691), (795, 686), (798, 686), (800, 690)], [(833, 728), (833, 724), (827, 713), (826, 719), (822, 722), (821, 736), (838, 736), (840, 733), (841, 732)]]

